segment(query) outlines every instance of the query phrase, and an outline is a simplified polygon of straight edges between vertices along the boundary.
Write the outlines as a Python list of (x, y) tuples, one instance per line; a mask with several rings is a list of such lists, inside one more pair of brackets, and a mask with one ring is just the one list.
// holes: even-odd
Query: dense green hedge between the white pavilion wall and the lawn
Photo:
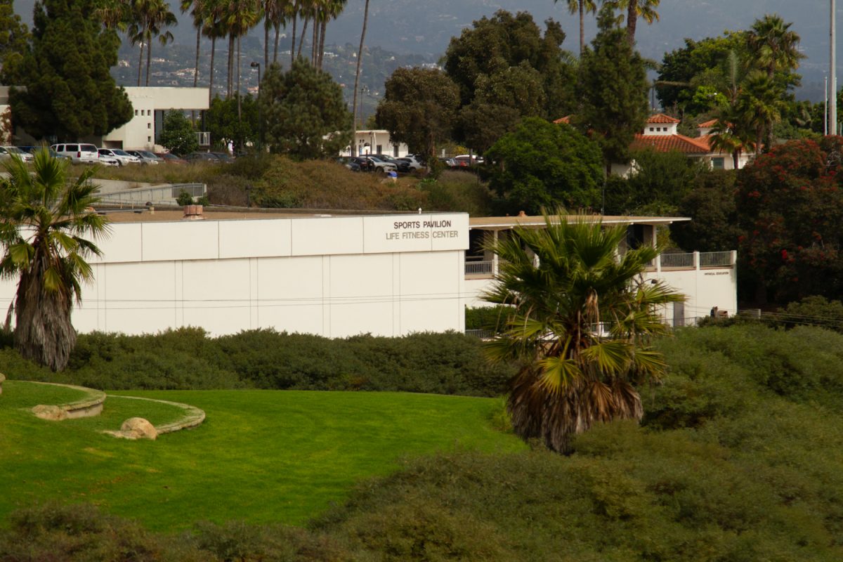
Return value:
[(209, 338), (201, 329), (158, 335), (79, 335), (65, 372), (52, 373), (0, 351), (10, 378), (102, 389), (276, 388), (383, 390), (495, 396), (512, 369), (491, 367), (481, 341), (461, 334), (402, 338), (250, 330)]

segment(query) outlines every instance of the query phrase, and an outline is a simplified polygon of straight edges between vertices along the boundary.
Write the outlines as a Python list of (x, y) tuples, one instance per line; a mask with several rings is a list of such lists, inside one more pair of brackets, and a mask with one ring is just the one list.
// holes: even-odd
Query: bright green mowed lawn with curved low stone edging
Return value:
[[(154, 442), (116, 439), (99, 431), (133, 416), (162, 424), (181, 414), (119, 394), (191, 404), (207, 419)], [(302, 524), (402, 459), (524, 448), (491, 426), (495, 400), (432, 394), (137, 391), (109, 393), (95, 418), (46, 421), (29, 411), (79, 397), (67, 388), (3, 384), (0, 522), (19, 507), (55, 500), (93, 503), (158, 531), (201, 520)]]

